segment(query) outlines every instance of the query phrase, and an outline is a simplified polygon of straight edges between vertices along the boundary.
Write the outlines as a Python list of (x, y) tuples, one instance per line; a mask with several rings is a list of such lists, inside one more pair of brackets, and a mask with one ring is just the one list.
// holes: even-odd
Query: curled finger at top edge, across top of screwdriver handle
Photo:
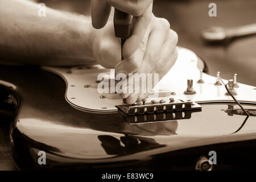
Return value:
[(141, 16), (153, 0), (105, 0), (105, 2), (130, 15)]

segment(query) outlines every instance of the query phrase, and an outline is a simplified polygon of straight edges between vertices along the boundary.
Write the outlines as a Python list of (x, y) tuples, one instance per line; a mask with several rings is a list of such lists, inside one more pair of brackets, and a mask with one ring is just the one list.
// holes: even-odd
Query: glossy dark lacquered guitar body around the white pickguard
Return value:
[[(196, 65), (203, 69), (201, 63)], [(108, 112), (90, 107), (91, 103), (84, 106), (69, 101), (68, 78), (57, 72), (63, 69), (68, 68), (0, 67), (1, 105), (5, 103), (1, 113), (9, 113), (1, 120), (13, 117), (11, 144), (20, 169), (193, 170), (202, 156), (209, 158), (210, 151), (217, 154), (213, 169), (255, 168), (253, 86), (240, 84), (237, 96), (250, 111), (249, 118), (230, 96), (212, 102), (205, 96), (205, 100), (195, 100), (201, 110), (185, 113), (184, 118), (134, 124), (113, 109), (121, 102), (116, 98), (103, 101), (111, 107)], [(251, 89), (247, 90), (251, 95), (245, 93), (243, 99), (242, 89)], [(181, 97), (179, 90), (185, 88), (177, 88), (175, 97)], [(39, 151), (46, 152), (45, 165), (38, 163)]]

